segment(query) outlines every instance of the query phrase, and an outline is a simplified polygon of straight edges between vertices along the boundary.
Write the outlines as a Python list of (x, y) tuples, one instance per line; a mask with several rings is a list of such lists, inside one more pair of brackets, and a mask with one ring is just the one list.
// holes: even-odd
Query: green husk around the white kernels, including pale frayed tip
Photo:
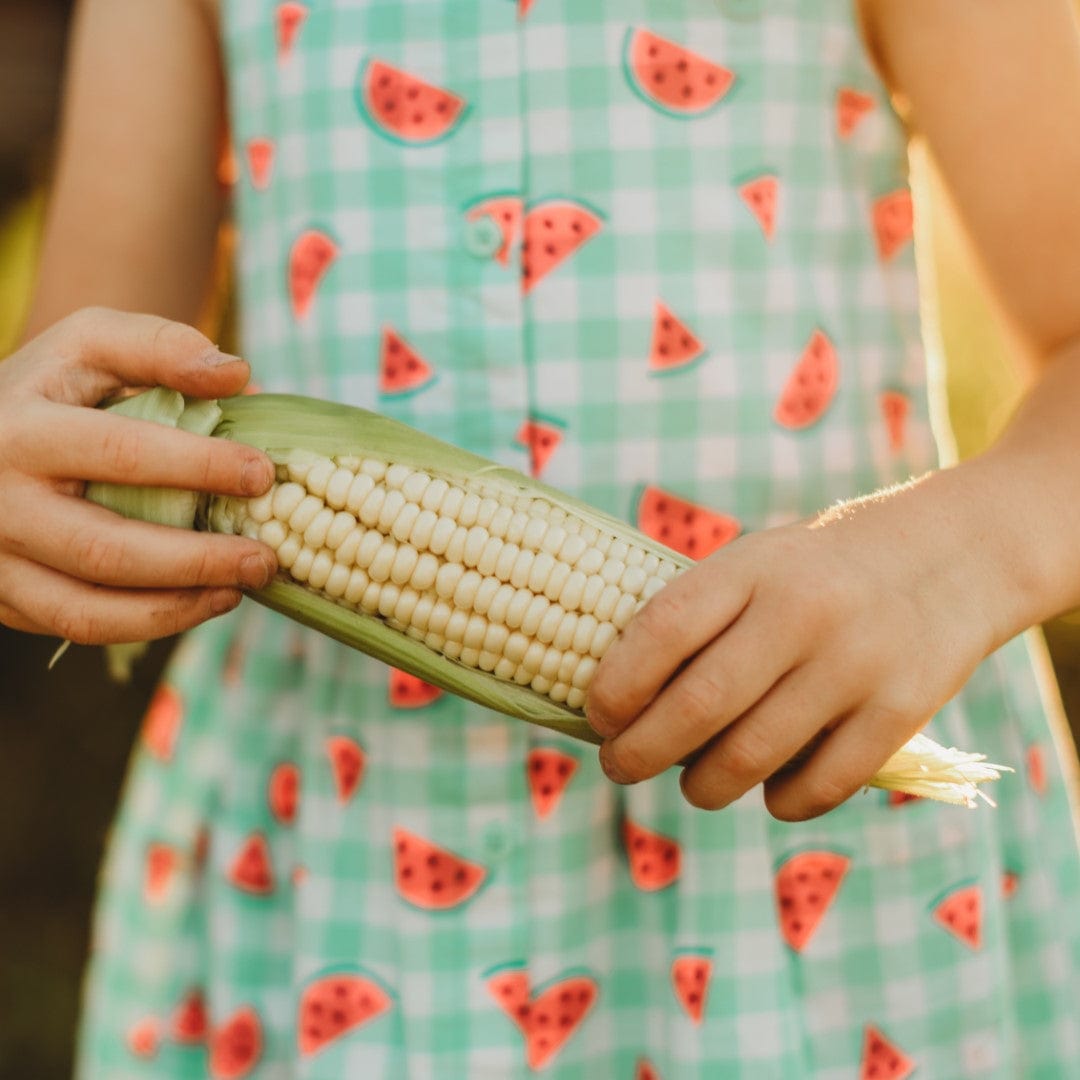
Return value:
[[(492, 494), (488, 489), (500, 489), (515, 497), (528, 494), (546, 499), (600, 531), (642, 544), (684, 569), (692, 565), (691, 559), (578, 499), (366, 409), (285, 394), (244, 395), (217, 403), (185, 401), (180, 394), (160, 388), (125, 399), (112, 408), (127, 416), (245, 443), (264, 450), (278, 464), (311, 454), (376, 457), (458, 484), (478, 480), (486, 494)], [(224, 516), (215, 513), (220, 500), (214, 496), (104, 484), (91, 485), (86, 495), (125, 516), (185, 528), (212, 529)], [(249, 595), (266, 607), (458, 697), (576, 739), (600, 741), (579, 711), (443, 657), (388, 626), (378, 616), (339, 605), (284, 572)], [(946, 750), (918, 735), (890, 759), (869, 786), (974, 806), (976, 798), (989, 801), (978, 784), (997, 780), (1002, 771), (1011, 770), (986, 764), (981, 755)]]

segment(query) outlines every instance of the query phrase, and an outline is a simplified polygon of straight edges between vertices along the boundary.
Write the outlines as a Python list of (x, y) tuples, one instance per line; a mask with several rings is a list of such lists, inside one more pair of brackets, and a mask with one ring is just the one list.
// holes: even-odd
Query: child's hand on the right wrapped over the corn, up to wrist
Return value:
[(750, 535), (658, 593), (590, 689), (610, 778), (690, 758), (694, 806), (765, 782), (792, 821), (859, 791), (1021, 629), (956, 472)]

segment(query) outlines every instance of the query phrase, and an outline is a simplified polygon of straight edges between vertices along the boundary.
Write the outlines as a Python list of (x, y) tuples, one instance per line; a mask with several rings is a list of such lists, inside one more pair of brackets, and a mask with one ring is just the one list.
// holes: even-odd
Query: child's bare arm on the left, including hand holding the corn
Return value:
[[(28, 327), (38, 336), (0, 363), (10, 626), (78, 642), (160, 637), (234, 606), (238, 585), (272, 572), (261, 544), (125, 522), (78, 497), (87, 480), (238, 495), (271, 481), (254, 450), (83, 407), (122, 387), (220, 396), (247, 380), (246, 364), (183, 325), (208, 281), (221, 113), (202, 0), (79, 5)], [(90, 305), (100, 307), (70, 314)]]

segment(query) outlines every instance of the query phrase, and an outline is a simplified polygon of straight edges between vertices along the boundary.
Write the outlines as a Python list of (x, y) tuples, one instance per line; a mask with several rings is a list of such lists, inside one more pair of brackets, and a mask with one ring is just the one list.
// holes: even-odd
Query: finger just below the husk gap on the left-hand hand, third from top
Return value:
[(51, 494), (9, 528), (8, 543), (70, 577), (127, 589), (262, 589), (276, 569), (273, 552), (255, 540), (127, 521)]

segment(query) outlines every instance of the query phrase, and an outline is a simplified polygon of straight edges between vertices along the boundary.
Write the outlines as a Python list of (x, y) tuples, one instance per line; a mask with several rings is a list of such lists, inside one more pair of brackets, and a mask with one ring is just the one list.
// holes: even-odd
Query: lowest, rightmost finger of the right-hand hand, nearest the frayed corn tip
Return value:
[(781, 821), (807, 821), (833, 810), (865, 787), (923, 721), (899, 724), (895, 714), (856, 710), (805, 761), (766, 783), (769, 812)]

